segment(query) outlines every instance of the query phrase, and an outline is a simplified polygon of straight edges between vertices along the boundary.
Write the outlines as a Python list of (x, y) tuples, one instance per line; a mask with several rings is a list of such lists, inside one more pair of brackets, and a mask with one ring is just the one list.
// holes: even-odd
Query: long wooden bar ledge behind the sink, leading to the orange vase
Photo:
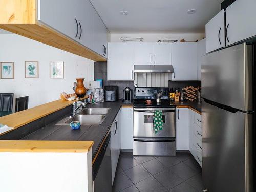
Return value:
[[(87, 99), (88, 96), (83, 97), (82, 99)], [(56, 111), (59, 111), (63, 108), (66, 108), (66, 106), (72, 105), (75, 101), (62, 101), (61, 99), (52, 101), (46, 104), (42, 104), (39, 106), (35, 106), (34, 108), (30, 108), (24, 111), (20, 111), (17, 113), (13, 113), (10, 115), (6, 115), (3, 117), (0, 117), (0, 122), (2, 124), (5, 124), (9, 127), (13, 127), (12, 130), (17, 129), (20, 126), (23, 126), (25, 124), (28, 124), (32, 121), (35, 121), (37, 119), (40, 119), (42, 117), (45, 117), (51, 113), (54, 113)], [(10, 132), (12, 130), (9, 130), (7, 132)], [(4, 135), (7, 132), (1, 133), (0, 135)]]

